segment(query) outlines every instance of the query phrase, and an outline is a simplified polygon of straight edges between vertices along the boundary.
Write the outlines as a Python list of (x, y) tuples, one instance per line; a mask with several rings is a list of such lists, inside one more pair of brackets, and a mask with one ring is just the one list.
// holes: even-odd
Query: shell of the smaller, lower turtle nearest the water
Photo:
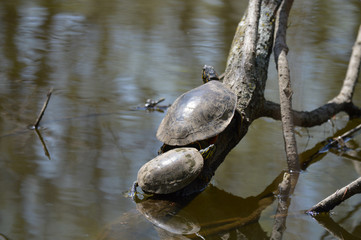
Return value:
[(203, 168), (195, 148), (176, 148), (158, 155), (138, 171), (138, 185), (148, 193), (169, 194), (191, 183)]

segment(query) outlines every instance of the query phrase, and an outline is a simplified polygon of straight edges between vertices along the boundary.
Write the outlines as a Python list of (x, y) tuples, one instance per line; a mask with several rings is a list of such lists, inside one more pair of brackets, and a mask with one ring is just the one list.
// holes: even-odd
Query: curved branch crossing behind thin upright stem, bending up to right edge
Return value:
[[(352, 96), (355, 90), (361, 65), (361, 26), (357, 39), (352, 49), (350, 62), (346, 77), (340, 93), (327, 104), (310, 112), (293, 111), (294, 124), (302, 127), (312, 127), (327, 122), (339, 112), (346, 112), (350, 117), (360, 117), (361, 109), (352, 103)], [(262, 117), (281, 119), (279, 104), (266, 101), (262, 111)]]

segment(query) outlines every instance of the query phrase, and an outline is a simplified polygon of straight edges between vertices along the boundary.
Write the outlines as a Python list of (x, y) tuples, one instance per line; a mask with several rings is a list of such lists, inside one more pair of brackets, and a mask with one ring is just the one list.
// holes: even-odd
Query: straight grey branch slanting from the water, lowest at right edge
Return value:
[(361, 193), (361, 177), (317, 203), (307, 210), (307, 213), (313, 215), (320, 212), (329, 212), (346, 199), (358, 193)]

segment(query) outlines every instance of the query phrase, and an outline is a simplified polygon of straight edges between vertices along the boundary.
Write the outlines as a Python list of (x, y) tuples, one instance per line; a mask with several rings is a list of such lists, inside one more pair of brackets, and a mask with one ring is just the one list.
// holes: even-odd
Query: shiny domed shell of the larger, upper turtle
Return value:
[(157, 131), (168, 145), (182, 146), (221, 133), (231, 122), (237, 96), (223, 83), (210, 81), (177, 98)]

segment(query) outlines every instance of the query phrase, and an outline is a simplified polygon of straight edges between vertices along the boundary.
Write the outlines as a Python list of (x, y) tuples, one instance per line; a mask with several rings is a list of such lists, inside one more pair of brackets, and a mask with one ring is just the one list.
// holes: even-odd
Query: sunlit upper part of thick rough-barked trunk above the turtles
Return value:
[(262, 109), (274, 16), (280, 2), (250, 1), (232, 42), (224, 83), (238, 95), (237, 110), (243, 116), (243, 123), (251, 123)]

